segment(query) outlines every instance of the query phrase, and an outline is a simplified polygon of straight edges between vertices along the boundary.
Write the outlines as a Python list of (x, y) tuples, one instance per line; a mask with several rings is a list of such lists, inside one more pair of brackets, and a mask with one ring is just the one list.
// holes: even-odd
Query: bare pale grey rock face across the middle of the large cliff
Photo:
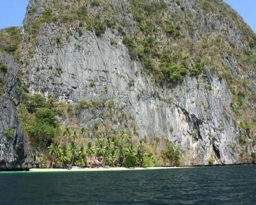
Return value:
[[(102, 38), (88, 31), (79, 37), (74, 31), (67, 40), (64, 27), (42, 30), (44, 35), (28, 64), (30, 92), (73, 103), (113, 99), (131, 113), (140, 136), (164, 134), (188, 150), (188, 164), (208, 164), (211, 155), (223, 164), (237, 162), (233, 147), (239, 130), (225, 80), (219, 81), (208, 70), (205, 77), (186, 77), (172, 90), (158, 88), (110, 30)], [(57, 45), (53, 42), (60, 34), (62, 43)], [(118, 46), (111, 46), (113, 37)], [(95, 85), (90, 86), (91, 81)], [(85, 126), (91, 123), (87, 121)]]

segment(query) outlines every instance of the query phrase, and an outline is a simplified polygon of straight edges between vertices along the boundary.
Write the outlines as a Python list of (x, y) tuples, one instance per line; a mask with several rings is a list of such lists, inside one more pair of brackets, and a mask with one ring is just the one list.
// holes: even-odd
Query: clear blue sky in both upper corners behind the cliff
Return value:
[[(211, 0), (208, 0), (211, 1)], [(256, 32), (256, 0), (224, 0)], [(28, 0), (0, 0), (0, 28), (21, 26)]]

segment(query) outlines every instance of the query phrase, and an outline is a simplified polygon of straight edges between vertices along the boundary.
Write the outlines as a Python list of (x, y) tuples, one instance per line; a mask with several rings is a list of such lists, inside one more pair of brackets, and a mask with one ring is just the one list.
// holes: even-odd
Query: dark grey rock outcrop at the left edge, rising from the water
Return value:
[(0, 170), (24, 170), (31, 168), (33, 161), (27, 158), (26, 137), (16, 109), (21, 98), (19, 66), (1, 52), (0, 62), (6, 68), (0, 72)]

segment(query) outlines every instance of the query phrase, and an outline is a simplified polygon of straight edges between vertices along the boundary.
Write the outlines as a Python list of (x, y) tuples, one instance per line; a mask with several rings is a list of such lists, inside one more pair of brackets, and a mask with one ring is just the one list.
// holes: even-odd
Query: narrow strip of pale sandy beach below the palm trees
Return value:
[(118, 170), (159, 170), (159, 169), (172, 169), (172, 168), (185, 168), (185, 167), (149, 167), (149, 168), (125, 168), (125, 167), (111, 167), (111, 168), (80, 168), (73, 167), (70, 170), (66, 168), (30, 168), (30, 172), (95, 172), (95, 171), (118, 171)]

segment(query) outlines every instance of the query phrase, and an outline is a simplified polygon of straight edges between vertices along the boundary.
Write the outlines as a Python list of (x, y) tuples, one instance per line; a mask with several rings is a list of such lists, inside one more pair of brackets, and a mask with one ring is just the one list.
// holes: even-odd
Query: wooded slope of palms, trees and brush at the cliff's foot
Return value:
[[(113, 101), (82, 100), (75, 108), (40, 94), (26, 94), (23, 101), (19, 119), (38, 154), (44, 153), (43, 157), (37, 157), (37, 163), (42, 166), (88, 166), (87, 157), (93, 156), (109, 166), (179, 165), (179, 148), (172, 142), (167, 140), (163, 146), (165, 138), (156, 137), (149, 141), (147, 137), (140, 139), (133, 132), (124, 130), (122, 124), (131, 126), (132, 130), (131, 117), (122, 108), (116, 108)], [(75, 115), (82, 110), (92, 115), (97, 110), (104, 121), (87, 128), (77, 123), (66, 126), (57, 121), (57, 116), (74, 121)], [(158, 146), (160, 141), (162, 146)]]

